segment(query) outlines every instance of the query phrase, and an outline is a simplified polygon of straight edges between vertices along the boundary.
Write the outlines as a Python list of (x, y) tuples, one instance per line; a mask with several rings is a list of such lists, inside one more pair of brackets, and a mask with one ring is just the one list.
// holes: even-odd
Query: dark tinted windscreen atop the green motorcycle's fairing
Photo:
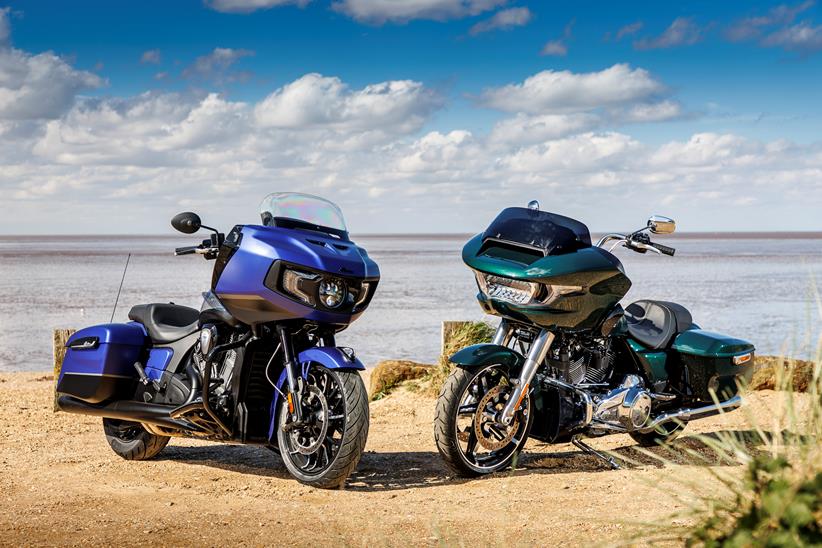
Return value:
[(502, 210), (482, 238), (537, 248), (545, 255), (563, 255), (591, 247), (588, 227), (579, 221), (524, 207)]

